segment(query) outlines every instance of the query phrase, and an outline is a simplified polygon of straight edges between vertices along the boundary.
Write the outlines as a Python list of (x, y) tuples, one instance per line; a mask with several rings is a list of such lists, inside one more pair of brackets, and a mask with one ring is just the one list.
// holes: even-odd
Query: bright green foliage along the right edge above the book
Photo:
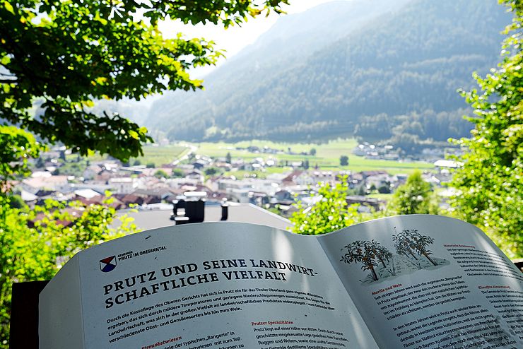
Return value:
[(478, 89), (463, 93), (474, 108), (475, 128), (458, 143), (464, 166), (451, 186), (460, 218), (484, 227), (510, 258), (523, 257), (523, 3), (503, 0), (514, 14), (505, 29), (503, 62)]

